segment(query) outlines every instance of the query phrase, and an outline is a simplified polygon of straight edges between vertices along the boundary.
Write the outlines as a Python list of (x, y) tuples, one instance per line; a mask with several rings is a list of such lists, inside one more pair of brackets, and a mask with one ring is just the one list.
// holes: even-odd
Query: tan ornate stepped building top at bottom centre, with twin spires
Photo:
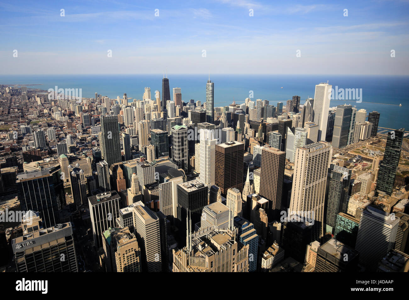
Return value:
[(173, 272), (248, 272), (249, 245), (235, 236), (235, 231), (214, 227), (192, 233), (187, 247), (172, 250)]

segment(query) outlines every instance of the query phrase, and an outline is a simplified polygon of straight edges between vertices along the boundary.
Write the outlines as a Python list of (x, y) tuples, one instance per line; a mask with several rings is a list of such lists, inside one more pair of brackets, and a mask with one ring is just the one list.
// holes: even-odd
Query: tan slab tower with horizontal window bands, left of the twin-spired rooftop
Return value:
[[(133, 206), (135, 235), (142, 253), (142, 271), (162, 271), (160, 220), (142, 202)], [(164, 270), (165, 271), (165, 270)]]

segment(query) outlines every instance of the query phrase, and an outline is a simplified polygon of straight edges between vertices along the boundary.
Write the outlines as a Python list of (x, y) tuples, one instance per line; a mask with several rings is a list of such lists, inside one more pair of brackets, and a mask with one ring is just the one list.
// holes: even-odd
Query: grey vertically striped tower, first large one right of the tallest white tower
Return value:
[(338, 105), (335, 113), (332, 145), (334, 148), (344, 148), (348, 145), (348, 134), (351, 128), (352, 105)]

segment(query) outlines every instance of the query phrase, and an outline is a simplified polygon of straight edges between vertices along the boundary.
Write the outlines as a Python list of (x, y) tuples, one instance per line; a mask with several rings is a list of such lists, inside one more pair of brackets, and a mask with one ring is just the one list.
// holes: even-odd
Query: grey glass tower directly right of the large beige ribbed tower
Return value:
[(334, 164), (330, 165), (328, 171), (326, 232), (333, 234), (338, 213), (346, 213), (348, 206), (348, 191), (352, 171)]

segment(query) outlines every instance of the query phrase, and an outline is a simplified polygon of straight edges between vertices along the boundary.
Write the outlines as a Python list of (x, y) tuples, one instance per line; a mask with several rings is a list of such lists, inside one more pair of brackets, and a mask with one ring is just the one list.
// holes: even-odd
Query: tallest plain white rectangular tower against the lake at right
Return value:
[(314, 95), (314, 122), (318, 125), (318, 140), (325, 140), (330, 109), (332, 85), (320, 83), (315, 86)]

